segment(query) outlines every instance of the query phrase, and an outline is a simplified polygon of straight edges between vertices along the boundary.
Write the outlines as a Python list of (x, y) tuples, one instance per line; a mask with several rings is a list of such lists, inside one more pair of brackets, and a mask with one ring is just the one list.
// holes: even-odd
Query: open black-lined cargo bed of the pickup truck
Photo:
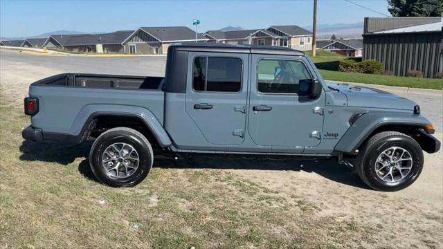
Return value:
[(89, 89), (158, 89), (164, 77), (62, 73), (39, 80), (33, 85), (71, 86)]

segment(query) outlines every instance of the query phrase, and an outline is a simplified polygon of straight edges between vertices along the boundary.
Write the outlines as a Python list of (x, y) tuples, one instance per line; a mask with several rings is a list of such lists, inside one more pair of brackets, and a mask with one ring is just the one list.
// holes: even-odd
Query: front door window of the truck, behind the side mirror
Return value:
[(257, 89), (260, 93), (305, 94), (311, 75), (300, 61), (261, 59), (258, 62)]

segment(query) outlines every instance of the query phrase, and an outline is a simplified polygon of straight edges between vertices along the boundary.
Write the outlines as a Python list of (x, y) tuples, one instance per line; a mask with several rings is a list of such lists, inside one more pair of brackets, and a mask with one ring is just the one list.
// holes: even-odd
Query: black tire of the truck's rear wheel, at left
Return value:
[[(125, 143), (132, 146), (136, 151), (136, 156), (138, 156), (138, 167), (136, 167), (134, 172), (129, 176), (127, 176), (127, 172), (125, 177), (109, 176), (105, 166), (102, 165), (102, 157), (105, 153), (105, 149), (118, 143)], [(153, 162), (154, 153), (152, 152), (150, 142), (142, 133), (126, 127), (117, 127), (102, 133), (93, 142), (89, 154), (89, 164), (91, 165), (91, 170), (94, 176), (96, 176), (100, 183), (111, 187), (132, 187), (141, 183), (141, 181), (146, 178), (147, 174), (149, 174)], [(120, 174), (120, 172), (116, 173), (114, 171), (114, 174)]]

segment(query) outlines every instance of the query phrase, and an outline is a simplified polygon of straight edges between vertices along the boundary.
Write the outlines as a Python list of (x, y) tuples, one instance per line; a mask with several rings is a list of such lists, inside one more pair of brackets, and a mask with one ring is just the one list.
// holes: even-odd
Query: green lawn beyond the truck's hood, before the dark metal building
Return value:
[[(311, 51), (307, 51), (311, 56)], [(317, 50), (316, 57), (311, 58), (320, 69), (325, 80), (337, 80), (342, 82), (359, 82), (365, 84), (380, 84), (386, 86), (403, 86), (420, 89), (443, 89), (442, 79), (398, 77), (392, 75), (372, 75), (365, 73), (345, 73), (338, 71), (338, 63), (347, 57), (325, 50)]]

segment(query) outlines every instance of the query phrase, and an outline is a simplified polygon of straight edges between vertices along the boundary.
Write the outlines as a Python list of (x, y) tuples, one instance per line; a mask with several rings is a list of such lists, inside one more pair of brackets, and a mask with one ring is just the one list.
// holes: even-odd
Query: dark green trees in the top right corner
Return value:
[(388, 0), (392, 17), (440, 17), (442, 0)]

